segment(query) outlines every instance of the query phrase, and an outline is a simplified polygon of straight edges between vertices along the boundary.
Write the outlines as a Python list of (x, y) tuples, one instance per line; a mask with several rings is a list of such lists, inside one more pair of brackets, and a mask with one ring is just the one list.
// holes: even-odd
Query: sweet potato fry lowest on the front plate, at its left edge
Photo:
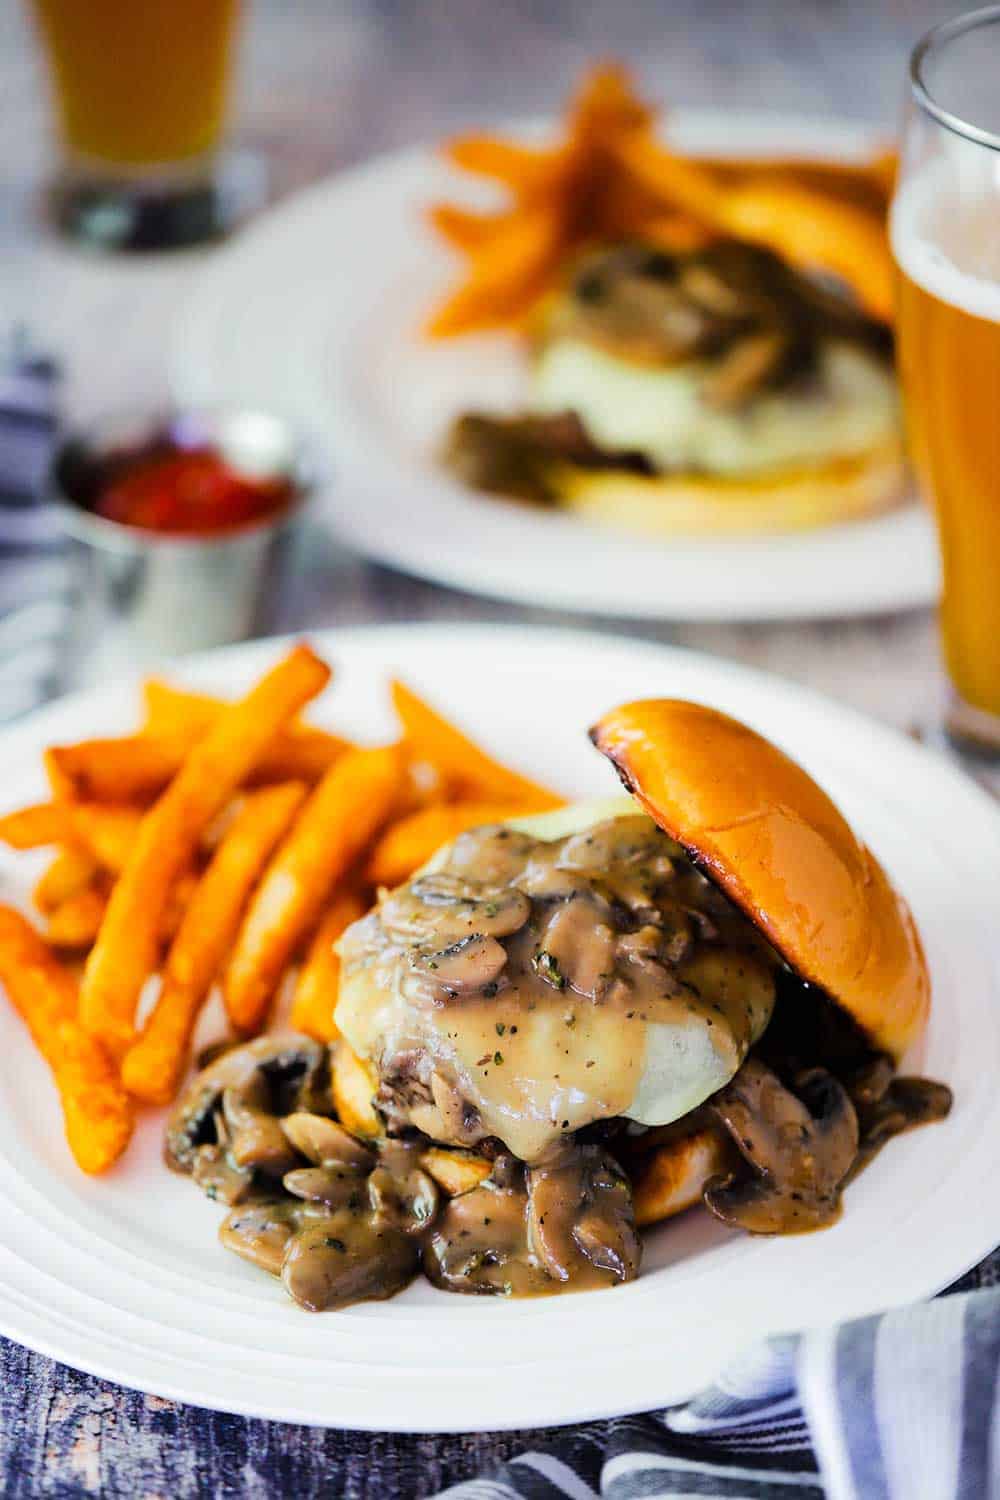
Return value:
[(132, 1104), (111, 1062), (76, 1020), (76, 982), (30, 922), (0, 906), (0, 981), (55, 1078), (69, 1149), (105, 1172), (132, 1134)]

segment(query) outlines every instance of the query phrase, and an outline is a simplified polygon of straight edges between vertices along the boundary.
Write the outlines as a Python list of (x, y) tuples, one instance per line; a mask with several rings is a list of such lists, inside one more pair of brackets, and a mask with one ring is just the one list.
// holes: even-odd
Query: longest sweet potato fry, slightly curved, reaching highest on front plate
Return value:
[(142, 819), (90, 951), (79, 1016), (117, 1054), (133, 1041), (135, 1005), (156, 968), (171, 886), (193, 860), (207, 825), (259, 764), (274, 735), (327, 684), (330, 669), (297, 646), (246, 698), (229, 705)]

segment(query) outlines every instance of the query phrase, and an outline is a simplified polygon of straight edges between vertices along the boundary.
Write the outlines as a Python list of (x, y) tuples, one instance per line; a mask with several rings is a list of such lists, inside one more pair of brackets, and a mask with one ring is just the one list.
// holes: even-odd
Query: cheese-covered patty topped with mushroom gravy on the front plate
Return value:
[(462, 834), (340, 940), (336, 1018), (396, 1128), (522, 1161), (664, 1125), (739, 1068), (780, 960), (645, 814)]

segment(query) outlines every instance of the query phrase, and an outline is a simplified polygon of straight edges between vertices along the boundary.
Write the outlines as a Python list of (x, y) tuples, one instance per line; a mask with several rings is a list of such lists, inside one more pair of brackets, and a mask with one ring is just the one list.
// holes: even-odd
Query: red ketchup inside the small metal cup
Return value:
[(90, 508), (144, 531), (207, 536), (282, 510), (294, 486), (231, 468), (214, 448), (159, 448), (115, 465)]

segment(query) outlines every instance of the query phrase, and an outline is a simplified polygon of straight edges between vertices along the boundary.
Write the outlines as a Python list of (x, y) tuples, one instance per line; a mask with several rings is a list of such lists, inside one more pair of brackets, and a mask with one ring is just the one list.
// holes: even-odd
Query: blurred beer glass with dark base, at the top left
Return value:
[(33, 0), (52, 78), (60, 228), (112, 248), (226, 228), (219, 154), (238, 0)]

